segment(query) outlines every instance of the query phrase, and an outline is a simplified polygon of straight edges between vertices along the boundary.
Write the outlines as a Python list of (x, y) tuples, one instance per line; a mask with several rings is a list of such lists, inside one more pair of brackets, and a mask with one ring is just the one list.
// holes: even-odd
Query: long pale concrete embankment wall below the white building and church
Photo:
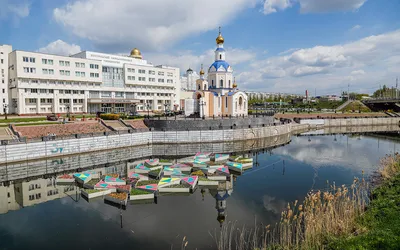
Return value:
[[(300, 127), (299, 127), (300, 126)], [(308, 125), (294, 125), (294, 129), (307, 128)], [(20, 143), (0, 146), (0, 164), (16, 161), (27, 161), (62, 155), (80, 154), (100, 150), (153, 145), (216, 143), (244, 141), (278, 136), (292, 132), (291, 124), (226, 130), (197, 131), (149, 131), (142, 133), (109, 135), (90, 138)]]

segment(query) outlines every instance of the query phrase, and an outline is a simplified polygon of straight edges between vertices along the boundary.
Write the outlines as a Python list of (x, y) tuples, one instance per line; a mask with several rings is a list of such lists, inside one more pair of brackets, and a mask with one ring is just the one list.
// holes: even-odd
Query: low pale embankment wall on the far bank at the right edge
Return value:
[(400, 117), (348, 118), (348, 119), (302, 119), (300, 124), (324, 127), (382, 126), (399, 124)]

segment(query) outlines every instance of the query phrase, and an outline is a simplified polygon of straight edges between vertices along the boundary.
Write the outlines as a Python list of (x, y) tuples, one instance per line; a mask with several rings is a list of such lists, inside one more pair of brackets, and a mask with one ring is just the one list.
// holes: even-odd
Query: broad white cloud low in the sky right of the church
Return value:
[(340, 91), (351, 81), (354, 91), (371, 92), (378, 81), (394, 81), (398, 74), (399, 40), (396, 30), (345, 44), (290, 50), (253, 60), (238, 73), (246, 88), (253, 90)]

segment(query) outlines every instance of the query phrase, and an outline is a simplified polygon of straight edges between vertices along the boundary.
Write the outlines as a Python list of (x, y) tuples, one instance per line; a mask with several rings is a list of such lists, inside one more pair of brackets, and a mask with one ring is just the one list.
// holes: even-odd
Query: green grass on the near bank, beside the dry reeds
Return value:
[(375, 189), (372, 198), (357, 221), (366, 232), (328, 238), (326, 249), (400, 249), (400, 175)]

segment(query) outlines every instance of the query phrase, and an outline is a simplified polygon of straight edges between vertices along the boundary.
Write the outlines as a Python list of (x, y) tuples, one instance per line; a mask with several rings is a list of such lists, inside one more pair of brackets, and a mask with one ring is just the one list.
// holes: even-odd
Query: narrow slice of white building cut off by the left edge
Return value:
[(12, 46), (0, 44), (0, 114), (8, 112), (8, 54)]

